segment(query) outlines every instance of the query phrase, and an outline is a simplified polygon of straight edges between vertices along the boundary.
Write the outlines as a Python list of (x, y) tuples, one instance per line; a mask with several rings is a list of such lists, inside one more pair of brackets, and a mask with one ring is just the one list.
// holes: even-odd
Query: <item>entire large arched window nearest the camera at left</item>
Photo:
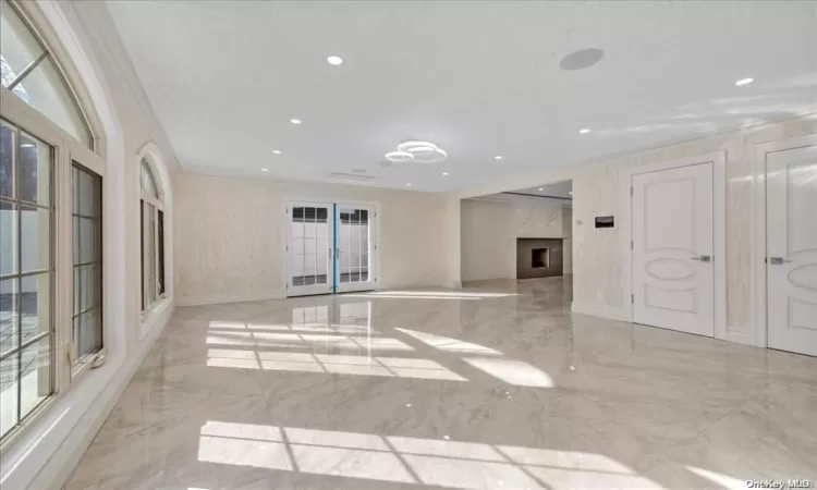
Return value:
[(105, 358), (105, 162), (26, 13), (25, 3), (0, 0), (3, 446)]

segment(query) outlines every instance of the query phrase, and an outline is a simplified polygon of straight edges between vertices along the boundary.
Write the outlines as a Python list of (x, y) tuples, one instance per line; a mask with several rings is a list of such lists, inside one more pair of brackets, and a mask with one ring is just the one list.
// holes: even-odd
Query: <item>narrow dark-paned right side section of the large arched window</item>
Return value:
[(74, 369), (102, 350), (102, 179), (73, 162)]

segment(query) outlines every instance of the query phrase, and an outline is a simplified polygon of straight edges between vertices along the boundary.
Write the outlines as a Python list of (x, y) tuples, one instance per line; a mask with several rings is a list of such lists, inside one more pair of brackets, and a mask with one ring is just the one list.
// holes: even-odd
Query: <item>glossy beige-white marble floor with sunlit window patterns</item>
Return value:
[(817, 358), (571, 315), (569, 289), (180, 308), (66, 488), (817, 478)]

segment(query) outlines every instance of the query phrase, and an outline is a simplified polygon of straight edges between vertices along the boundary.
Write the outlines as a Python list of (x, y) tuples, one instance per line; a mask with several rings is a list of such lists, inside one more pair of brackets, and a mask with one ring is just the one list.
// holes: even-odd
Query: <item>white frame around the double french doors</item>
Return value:
[[(291, 233), (292, 233), (292, 226), (290, 225), (291, 217), (289, 215), (289, 208), (293, 206), (293, 204), (316, 204), (321, 206), (328, 206), (329, 207), (329, 213), (332, 213), (333, 205), (336, 204), (342, 204), (347, 206), (366, 206), (370, 207), (374, 212), (375, 217), (374, 220), (369, 222), (369, 233), (371, 236), (371, 246), (373, 250), (369, 250), (369, 260), (371, 264), (371, 269), (374, 269), (374, 275), (375, 275), (375, 285), (376, 287), (374, 290), (367, 290), (367, 291), (377, 291), (380, 289), (380, 203), (376, 201), (369, 201), (369, 200), (356, 200), (356, 199), (329, 199), (326, 197), (285, 197), (283, 199), (283, 220), (282, 220), (282, 230), (283, 233), (283, 243), (281, 244), (281, 252), (284, 256), (284, 265), (281, 268), (281, 287), (283, 289), (283, 297), (302, 297), (302, 296), (290, 296), (289, 295), (289, 287), (286, 284), (290, 282), (290, 253), (286, 248), (290, 243)], [(332, 231), (332, 233), (334, 233)], [(337, 293), (334, 291), (331, 291), (331, 282), (329, 284), (330, 291), (326, 294), (342, 294)]]

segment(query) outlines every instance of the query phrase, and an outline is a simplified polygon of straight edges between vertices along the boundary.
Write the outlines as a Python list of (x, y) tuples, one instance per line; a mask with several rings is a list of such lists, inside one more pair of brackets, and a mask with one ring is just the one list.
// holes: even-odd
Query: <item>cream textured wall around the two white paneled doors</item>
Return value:
[[(752, 158), (755, 145), (817, 134), (817, 115), (779, 124), (744, 128), (692, 142), (668, 145), (583, 164), (542, 169), (509, 177), (489, 186), (452, 193), (466, 198), (522, 188), (531, 182), (547, 184), (573, 180), (573, 306), (574, 309), (609, 318), (629, 319), (622, 270), (624, 247), (622, 224), (629, 221), (624, 198), (629, 183), (622, 171), (633, 167), (724, 151), (727, 158), (727, 330), (729, 339), (748, 342), (754, 338), (752, 296)], [(614, 229), (593, 228), (595, 216), (614, 215)], [(463, 275), (465, 273), (463, 272)]]

